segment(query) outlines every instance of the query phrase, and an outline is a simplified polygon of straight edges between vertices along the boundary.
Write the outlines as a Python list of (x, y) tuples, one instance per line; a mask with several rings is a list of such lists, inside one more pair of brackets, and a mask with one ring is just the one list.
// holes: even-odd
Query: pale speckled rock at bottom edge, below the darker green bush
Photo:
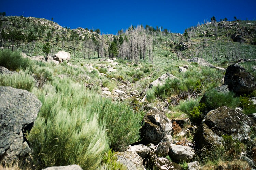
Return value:
[(125, 165), (128, 170), (143, 170), (143, 159), (136, 152), (117, 152), (117, 161)]

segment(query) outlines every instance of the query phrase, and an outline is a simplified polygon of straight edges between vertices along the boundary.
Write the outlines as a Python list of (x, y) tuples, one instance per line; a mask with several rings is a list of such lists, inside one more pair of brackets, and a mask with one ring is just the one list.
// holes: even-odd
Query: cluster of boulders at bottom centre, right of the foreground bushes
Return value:
[[(187, 127), (185, 122), (190, 122), (187, 119), (180, 119), (179, 123), (183, 122), (184, 127)], [(144, 169), (145, 167), (158, 170), (181, 170), (180, 162), (189, 162), (195, 158), (196, 154), (192, 147), (179, 145), (178, 141), (173, 141), (172, 121), (163, 112), (157, 109), (148, 111), (143, 118), (142, 125), (141, 144), (129, 146), (127, 151), (116, 154), (117, 161), (126, 165), (128, 169)], [(170, 159), (167, 159), (167, 156)], [(192, 165), (197, 165), (199, 169), (197, 162)]]

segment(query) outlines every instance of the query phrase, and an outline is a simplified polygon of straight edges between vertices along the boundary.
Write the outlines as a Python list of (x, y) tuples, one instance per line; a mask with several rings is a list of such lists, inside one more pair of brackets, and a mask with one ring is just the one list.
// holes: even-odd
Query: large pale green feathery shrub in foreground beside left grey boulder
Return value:
[(96, 169), (108, 148), (104, 125), (84, 110), (71, 113), (60, 109), (54, 119), (35, 121), (28, 135), (35, 164), (40, 168), (79, 164), (83, 169)]

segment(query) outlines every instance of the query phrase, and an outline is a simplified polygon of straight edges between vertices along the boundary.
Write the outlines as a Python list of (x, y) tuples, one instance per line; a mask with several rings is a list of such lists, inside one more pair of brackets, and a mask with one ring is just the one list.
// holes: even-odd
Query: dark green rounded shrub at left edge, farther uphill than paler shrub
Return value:
[(19, 52), (12, 52), (10, 50), (0, 51), (0, 65), (11, 70), (19, 71), (25, 70), (31, 65), (31, 60), (23, 58)]

